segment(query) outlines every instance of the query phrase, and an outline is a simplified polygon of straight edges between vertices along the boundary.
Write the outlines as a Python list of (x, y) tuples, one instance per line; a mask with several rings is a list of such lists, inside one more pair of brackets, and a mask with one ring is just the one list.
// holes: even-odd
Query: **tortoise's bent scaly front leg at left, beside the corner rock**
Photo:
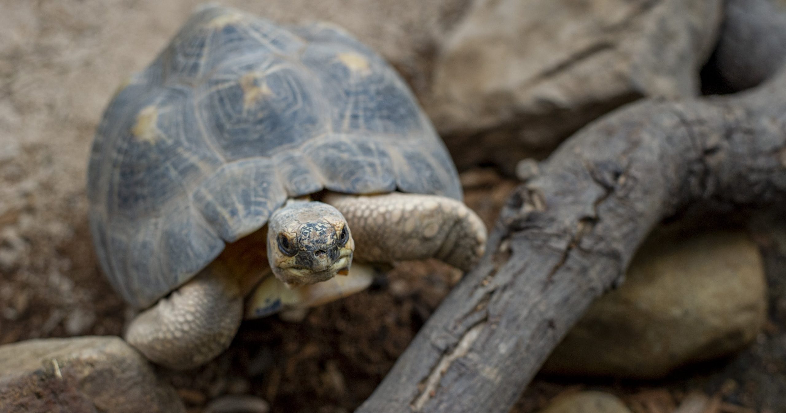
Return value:
[(185, 370), (229, 347), (242, 318), (237, 281), (214, 262), (136, 316), (125, 338), (153, 363)]

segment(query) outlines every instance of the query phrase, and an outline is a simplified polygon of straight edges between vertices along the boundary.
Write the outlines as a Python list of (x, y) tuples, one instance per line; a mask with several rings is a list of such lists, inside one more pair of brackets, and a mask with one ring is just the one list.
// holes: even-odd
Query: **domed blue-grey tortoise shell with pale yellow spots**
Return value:
[(138, 307), (288, 197), (461, 199), (443, 142), (376, 53), (328, 24), (282, 27), (219, 6), (198, 9), (112, 98), (87, 188), (101, 267)]

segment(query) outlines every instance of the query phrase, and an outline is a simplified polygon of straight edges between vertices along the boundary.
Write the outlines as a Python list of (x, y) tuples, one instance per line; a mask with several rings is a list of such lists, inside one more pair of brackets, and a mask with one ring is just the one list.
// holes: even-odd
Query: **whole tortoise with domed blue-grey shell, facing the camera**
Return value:
[(244, 318), (367, 287), (353, 260), (466, 271), (486, 240), (381, 57), (331, 24), (218, 5), (112, 97), (87, 185), (101, 269), (141, 310), (125, 338), (174, 369), (221, 353)]

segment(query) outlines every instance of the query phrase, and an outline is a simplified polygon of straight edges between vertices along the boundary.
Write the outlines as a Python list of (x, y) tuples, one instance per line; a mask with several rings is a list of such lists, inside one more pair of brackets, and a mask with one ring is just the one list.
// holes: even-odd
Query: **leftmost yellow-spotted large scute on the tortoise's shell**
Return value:
[[(146, 93), (119, 119), (102, 159), (108, 187), (106, 210), (127, 219), (155, 217), (182, 203), (196, 183), (222, 163), (204, 141), (189, 90), (167, 87)], [(149, 139), (134, 136), (134, 131)], [(148, 136), (151, 135), (151, 136)], [(152, 138), (154, 137), (154, 138)]]

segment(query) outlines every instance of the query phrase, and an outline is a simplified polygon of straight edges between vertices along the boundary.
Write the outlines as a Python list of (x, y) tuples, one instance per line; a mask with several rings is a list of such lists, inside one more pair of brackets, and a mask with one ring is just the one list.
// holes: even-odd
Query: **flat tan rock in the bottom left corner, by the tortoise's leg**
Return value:
[(0, 347), (0, 413), (185, 411), (144, 357), (117, 337), (49, 338)]

